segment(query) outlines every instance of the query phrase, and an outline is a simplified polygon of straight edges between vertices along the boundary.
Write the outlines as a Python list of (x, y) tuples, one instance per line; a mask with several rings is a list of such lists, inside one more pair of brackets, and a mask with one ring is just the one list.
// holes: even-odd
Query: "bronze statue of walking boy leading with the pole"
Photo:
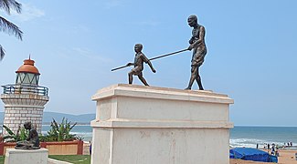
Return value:
[(134, 63), (128, 63), (126, 65), (126, 66), (134, 66), (133, 69), (131, 69), (131, 71), (128, 73), (129, 84), (133, 83), (133, 76), (138, 76), (138, 78), (143, 82), (143, 84), (145, 86), (149, 86), (143, 77), (143, 62), (148, 64), (154, 73), (156, 71), (155, 71), (151, 61), (146, 56), (144, 56), (142, 50), (143, 50), (143, 45), (136, 44), (134, 46), (134, 51), (136, 52), (135, 57), (134, 57)]

